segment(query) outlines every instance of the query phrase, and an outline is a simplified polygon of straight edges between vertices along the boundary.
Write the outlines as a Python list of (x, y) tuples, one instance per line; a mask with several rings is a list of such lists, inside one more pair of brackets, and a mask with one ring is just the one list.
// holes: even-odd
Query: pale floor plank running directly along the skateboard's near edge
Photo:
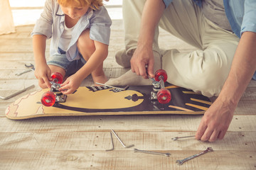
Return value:
[[(9, 120), (1, 132), (196, 132), (202, 115), (99, 115)], [(255, 132), (256, 115), (234, 115), (228, 132)]]

